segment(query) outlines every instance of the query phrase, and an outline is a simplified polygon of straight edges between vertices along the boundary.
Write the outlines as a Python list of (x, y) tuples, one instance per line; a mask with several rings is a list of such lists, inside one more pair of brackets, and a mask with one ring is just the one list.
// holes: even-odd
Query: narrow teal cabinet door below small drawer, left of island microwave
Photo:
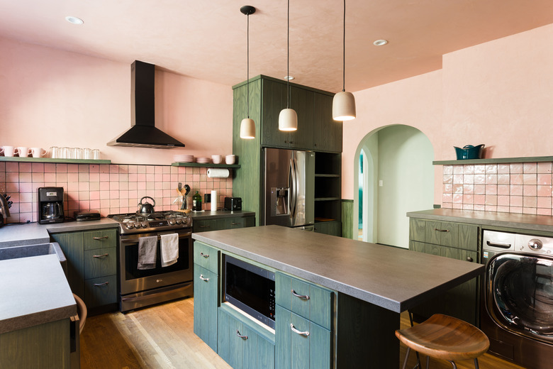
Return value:
[(194, 334), (217, 351), (219, 277), (194, 264)]

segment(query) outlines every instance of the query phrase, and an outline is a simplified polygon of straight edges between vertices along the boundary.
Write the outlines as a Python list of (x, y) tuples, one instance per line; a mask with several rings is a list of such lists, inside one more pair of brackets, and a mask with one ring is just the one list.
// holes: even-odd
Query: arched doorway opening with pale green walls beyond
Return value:
[(432, 160), (432, 144), (416, 128), (397, 124), (367, 134), (355, 155), (355, 214), (361, 210), (354, 216), (354, 235), (408, 248), (406, 213), (431, 209), (434, 201)]

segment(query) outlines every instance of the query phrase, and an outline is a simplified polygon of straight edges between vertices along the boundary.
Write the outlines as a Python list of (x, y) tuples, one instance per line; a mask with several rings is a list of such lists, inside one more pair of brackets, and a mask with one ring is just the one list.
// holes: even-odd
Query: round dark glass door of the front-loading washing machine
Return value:
[(553, 343), (553, 258), (523, 253), (491, 258), (486, 309), (508, 331)]

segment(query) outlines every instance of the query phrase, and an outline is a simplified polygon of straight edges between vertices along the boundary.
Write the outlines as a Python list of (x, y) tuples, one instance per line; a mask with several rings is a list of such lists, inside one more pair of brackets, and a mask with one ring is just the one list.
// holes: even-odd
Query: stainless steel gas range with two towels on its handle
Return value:
[[(108, 215), (119, 223), (119, 307), (128, 312), (172, 299), (193, 296), (192, 219), (179, 211)], [(177, 233), (177, 262), (162, 266), (161, 236)], [(150, 269), (139, 268), (140, 238), (157, 237)], [(152, 240), (152, 238), (150, 238)], [(154, 238), (155, 240), (155, 238)]]

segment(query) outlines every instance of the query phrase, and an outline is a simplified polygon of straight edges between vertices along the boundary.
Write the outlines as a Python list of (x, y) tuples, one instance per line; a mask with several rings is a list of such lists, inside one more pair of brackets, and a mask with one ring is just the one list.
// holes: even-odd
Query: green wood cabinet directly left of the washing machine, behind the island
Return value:
[[(479, 263), (479, 230), (479, 226), (474, 224), (410, 218), (409, 249)], [(441, 313), (477, 325), (479, 278), (464, 282), (412, 310), (422, 318)]]

